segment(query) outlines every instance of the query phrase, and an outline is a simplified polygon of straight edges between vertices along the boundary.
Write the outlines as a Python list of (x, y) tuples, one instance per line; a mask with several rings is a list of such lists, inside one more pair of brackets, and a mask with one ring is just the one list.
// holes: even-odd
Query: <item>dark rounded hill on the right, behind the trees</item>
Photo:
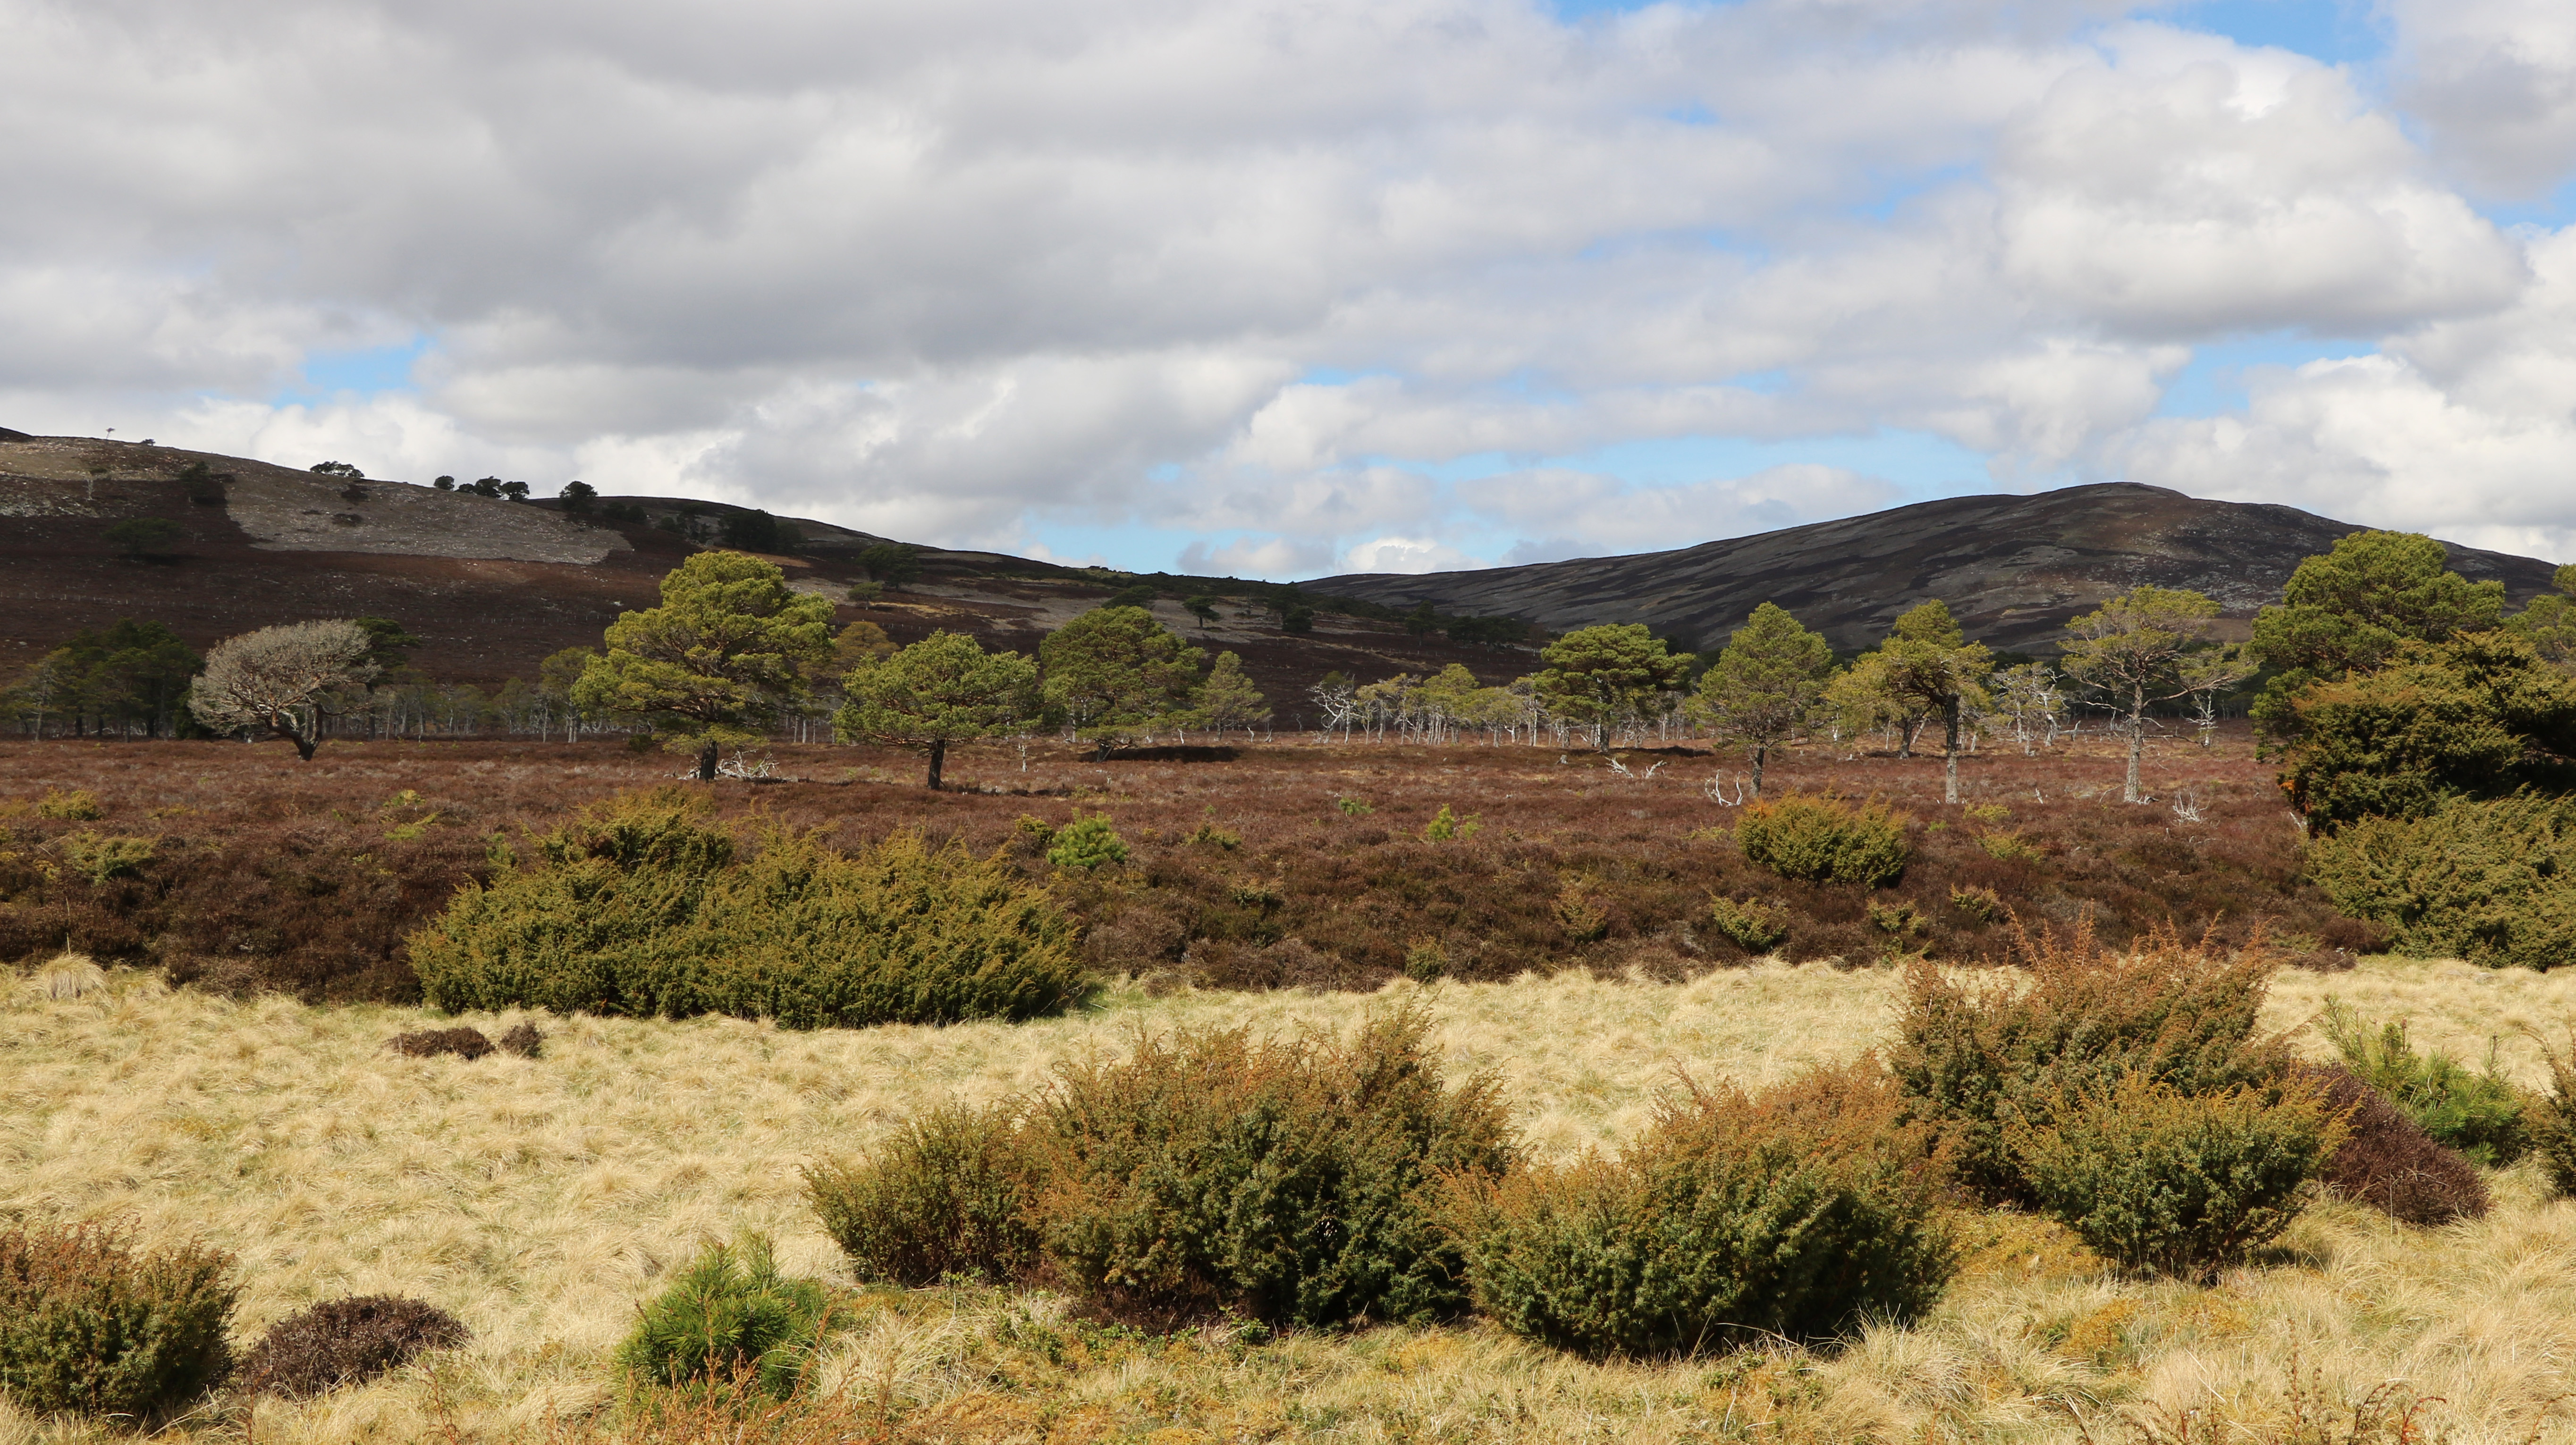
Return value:
[[(1968, 636), (2035, 652), (2066, 618), (2138, 582), (2208, 592), (2226, 616), (2251, 618), (2280, 600), (2300, 559), (2354, 531), (2298, 507), (2107, 482), (2032, 497), (1947, 497), (1677, 551), (1419, 577), (1360, 572), (1306, 587), (1388, 608), (1512, 616), (1551, 631), (1646, 623), (1703, 647), (1757, 605), (1780, 603), (1844, 649), (1875, 644), (1899, 613), (1940, 598)], [(2550, 590), (2548, 562), (2442, 546), (2460, 574), (2501, 580), (2514, 603)]]

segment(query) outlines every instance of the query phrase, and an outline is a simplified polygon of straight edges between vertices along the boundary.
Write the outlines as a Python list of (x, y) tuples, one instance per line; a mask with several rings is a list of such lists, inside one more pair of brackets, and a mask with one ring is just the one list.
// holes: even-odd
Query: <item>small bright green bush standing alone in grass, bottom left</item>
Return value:
[(814, 1280), (778, 1272), (770, 1242), (708, 1244), (644, 1306), (618, 1345), (631, 1391), (711, 1388), (793, 1396), (829, 1327), (832, 1301)]

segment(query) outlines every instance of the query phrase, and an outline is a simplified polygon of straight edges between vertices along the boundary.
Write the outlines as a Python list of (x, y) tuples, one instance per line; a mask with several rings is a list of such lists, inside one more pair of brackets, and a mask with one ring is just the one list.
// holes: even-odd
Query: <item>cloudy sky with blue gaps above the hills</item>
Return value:
[(2566, 0), (0, 0), (0, 425), (1319, 577), (2576, 556)]

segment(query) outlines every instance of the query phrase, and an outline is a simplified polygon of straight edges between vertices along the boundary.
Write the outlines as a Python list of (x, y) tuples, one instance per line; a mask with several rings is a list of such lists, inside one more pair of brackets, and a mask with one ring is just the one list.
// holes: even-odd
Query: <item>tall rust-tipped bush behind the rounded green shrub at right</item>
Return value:
[(2254, 1038), (2275, 968), (2262, 950), (2226, 958), (2159, 930), (2112, 953), (2089, 920), (2063, 935), (2014, 927), (2012, 950), (2027, 981), (1914, 963), (1888, 1053), (1911, 1118), (1942, 1131), (1958, 1180), (1986, 1200), (2035, 1198), (2007, 1131), (2045, 1126), (2061, 1095), (2125, 1074), (2213, 1095), (2287, 1066), (2280, 1041)]

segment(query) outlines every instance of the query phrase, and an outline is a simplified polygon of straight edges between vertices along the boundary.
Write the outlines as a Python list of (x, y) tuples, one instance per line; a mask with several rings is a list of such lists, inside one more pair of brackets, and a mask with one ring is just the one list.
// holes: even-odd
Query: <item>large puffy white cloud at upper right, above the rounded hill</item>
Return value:
[(2342, 72), (2159, 26), (2007, 131), (1999, 193), (2007, 273), (2128, 335), (2380, 330), (2522, 283), (2514, 245)]

